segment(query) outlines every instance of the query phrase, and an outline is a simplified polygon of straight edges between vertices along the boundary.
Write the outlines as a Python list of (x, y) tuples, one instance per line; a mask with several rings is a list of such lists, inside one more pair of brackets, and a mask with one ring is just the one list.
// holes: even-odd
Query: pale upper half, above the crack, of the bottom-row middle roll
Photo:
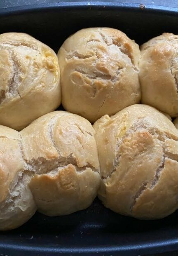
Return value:
[(55, 111), (39, 117), (20, 134), (26, 162), (57, 159), (61, 165), (74, 162), (77, 167), (99, 168), (94, 129), (83, 117)]

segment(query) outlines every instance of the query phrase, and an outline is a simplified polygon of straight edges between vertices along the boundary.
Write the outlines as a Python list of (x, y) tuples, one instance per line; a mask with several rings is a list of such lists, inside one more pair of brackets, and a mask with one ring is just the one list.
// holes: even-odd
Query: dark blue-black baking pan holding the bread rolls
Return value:
[[(61, 2), (0, 9), (0, 33), (26, 32), (52, 47), (80, 28), (108, 26), (141, 44), (178, 34), (178, 9), (111, 2)], [(99, 200), (69, 216), (36, 213), (20, 228), (0, 232), (0, 255), (134, 256), (178, 250), (178, 211), (158, 221), (115, 214)], [(165, 254), (164, 254), (165, 255)], [(174, 253), (173, 255), (178, 255)]]

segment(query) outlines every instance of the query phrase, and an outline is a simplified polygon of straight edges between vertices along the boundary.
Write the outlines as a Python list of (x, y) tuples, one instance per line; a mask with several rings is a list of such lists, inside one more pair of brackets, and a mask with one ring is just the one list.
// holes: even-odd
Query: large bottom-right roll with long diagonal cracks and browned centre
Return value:
[(178, 131), (153, 107), (136, 104), (94, 124), (103, 204), (140, 219), (178, 208)]

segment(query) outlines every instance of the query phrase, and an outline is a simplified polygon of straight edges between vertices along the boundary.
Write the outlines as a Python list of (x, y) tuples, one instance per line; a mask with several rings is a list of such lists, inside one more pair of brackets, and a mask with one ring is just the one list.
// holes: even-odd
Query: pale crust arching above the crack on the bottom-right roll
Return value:
[[(102, 150), (99, 150), (101, 176), (107, 176), (114, 169), (114, 162), (111, 159), (117, 157), (115, 147), (129, 129), (137, 129), (136, 127), (139, 126), (139, 128), (151, 129), (160, 134), (163, 132), (177, 138), (178, 132), (168, 117), (151, 106), (136, 104), (124, 108), (111, 117), (104, 115), (96, 121), (94, 123), (96, 140), (99, 145), (101, 143), (102, 148), (104, 146)], [(110, 159), (110, 164), (105, 159)]]

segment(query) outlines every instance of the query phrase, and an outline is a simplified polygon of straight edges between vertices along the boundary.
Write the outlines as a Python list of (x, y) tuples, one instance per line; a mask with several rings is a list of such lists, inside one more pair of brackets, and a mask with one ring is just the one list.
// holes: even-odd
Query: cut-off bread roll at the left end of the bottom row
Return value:
[(19, 227), (37, 209), (25, 165), (19, 132), (0, 125), (0, 230)]

